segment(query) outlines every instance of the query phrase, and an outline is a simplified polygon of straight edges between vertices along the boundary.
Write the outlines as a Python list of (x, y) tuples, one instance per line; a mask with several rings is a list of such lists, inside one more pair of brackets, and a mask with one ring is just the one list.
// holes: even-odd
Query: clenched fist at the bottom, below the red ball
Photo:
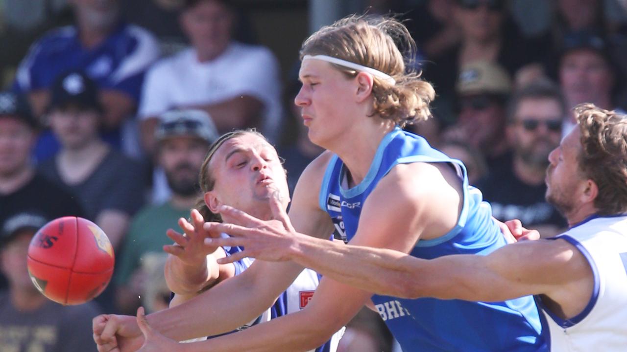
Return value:
[(144, 342), (133, 316), (102, 314), (93, 318), (92, 329), (98, 352), (137, 351)]

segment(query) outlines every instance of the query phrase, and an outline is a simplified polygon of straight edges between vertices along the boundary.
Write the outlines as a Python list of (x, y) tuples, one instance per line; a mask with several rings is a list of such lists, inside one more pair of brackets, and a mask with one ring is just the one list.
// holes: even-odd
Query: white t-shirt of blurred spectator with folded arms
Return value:
[(157, 62), (147, 73), (140, 118), (178, 106), (219, 103), (250, 95), (264, 105), (261, 132), (275, 141), (282, 120), (280, 70), (270, 49), (233, 42), (215, 60), (199, 62), (188, 48)]

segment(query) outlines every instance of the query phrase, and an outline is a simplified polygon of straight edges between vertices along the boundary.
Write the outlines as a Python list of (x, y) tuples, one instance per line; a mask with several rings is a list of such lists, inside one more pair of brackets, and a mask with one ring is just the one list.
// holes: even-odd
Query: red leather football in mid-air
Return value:
[(105, 232), (81, 217), (48, 222), (28, 247), (28, 272), (47, 298), (82, 304), (98, 296), (113, 274), (113, 247)]

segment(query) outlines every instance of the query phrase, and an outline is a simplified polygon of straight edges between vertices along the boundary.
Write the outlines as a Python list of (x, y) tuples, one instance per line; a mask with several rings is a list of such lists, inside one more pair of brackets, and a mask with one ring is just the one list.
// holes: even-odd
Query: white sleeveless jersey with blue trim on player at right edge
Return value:
[(589, 219), (555, 238), (584, 254), (594, 292), (584, 311), (568, 320), (539, 301), (551, 331), (551, 351), (627, 351), (627, 216)]

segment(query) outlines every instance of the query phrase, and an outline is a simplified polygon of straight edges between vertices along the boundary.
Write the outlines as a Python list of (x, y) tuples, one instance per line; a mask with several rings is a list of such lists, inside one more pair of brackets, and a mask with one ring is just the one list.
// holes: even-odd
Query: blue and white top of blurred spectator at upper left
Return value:
[[(34, 43), (19, 64), (13, 90), (18, 93), (48, 90), (55, 79), (71, 70), (84, 71), (98, 88), (115, 90), (139, 101), (145, 71), (159, 58), (157, 39), (133, 24), (120, 23), (102, 43), (85, 48), (75, 26), (53, 29)], [(103, 135), (120, 146), (119, 132)], [(35, 155), (44, 160), (60, 148), (56, 137), (45, 132)]]

